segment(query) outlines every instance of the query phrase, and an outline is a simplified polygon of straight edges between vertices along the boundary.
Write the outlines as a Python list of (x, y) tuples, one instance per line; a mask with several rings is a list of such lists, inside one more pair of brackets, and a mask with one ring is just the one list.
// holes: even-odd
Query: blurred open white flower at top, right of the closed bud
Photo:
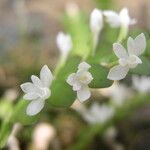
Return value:
[(111, 10), (106, 10), (103, 14), (106, 17), (106, 22), (108, 22), (113, 28), (120, 26), (128, 28), (129, 25), (136, 23), (135, 19), (130, 18), (127, 8), (123, 8), (119, 14)]

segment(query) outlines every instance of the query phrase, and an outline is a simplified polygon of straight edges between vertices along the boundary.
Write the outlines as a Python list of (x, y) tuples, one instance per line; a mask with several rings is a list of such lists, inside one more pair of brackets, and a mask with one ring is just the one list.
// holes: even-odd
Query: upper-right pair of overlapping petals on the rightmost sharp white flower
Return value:
[(146, 48), (146, 39), (145, 35), (141, 33), (138, 35), (135, 40), (131, 37), (128, 38), (128, 52), (130, 55), (141, 55)]

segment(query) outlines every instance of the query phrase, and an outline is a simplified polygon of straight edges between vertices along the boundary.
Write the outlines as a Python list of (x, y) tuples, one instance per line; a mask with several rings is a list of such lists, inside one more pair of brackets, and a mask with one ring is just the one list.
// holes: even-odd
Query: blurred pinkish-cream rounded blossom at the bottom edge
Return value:
[(33, 145), (36, 150), (47, 150), (50, 143), (55, 138), (55, 128), (47, 123), (36, 126), (33, 132)]

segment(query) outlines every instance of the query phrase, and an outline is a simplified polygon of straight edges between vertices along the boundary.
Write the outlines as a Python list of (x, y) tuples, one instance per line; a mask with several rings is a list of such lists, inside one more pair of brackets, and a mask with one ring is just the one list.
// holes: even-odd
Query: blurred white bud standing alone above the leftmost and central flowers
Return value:
[(56, 38), (56, 44), (61, 52), (62, 57), (66, 58), (69, 51), (72, 49), (72, 40), (70, 35), (59, 32)]

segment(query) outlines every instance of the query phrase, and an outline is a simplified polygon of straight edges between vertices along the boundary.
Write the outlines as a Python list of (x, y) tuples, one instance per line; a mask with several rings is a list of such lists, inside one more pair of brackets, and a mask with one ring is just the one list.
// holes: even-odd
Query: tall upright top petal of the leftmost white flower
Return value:
[(44, 65), (40, 72), (40, 79), (42, 84), (46, 87), (49, 87), (53, 81), (53, 75), (47, 65)]

